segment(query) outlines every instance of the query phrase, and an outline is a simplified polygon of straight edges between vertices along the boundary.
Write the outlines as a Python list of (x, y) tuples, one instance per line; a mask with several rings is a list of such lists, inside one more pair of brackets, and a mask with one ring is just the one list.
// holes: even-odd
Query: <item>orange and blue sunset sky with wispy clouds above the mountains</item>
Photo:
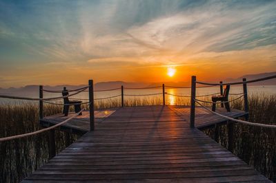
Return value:
[(0, 87), (274, 72), (276, 1), (0, 1), (0, 63)]

